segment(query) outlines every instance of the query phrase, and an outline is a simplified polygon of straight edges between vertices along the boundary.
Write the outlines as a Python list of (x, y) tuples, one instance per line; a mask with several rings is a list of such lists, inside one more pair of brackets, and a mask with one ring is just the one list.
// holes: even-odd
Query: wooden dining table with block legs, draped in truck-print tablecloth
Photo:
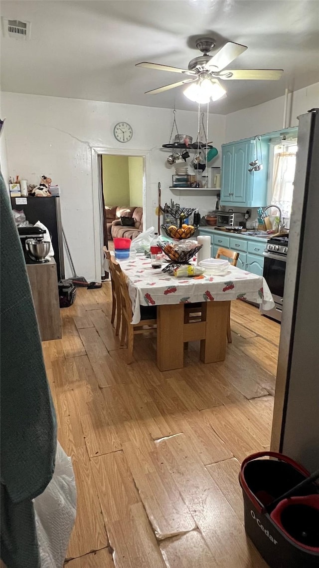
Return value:
[[(132, 324), (141, 321), (140, 306), (157, 306), (157, 366), (161, 371), (183, 367), (188, 341), (200, 340), (204, 363), (225, 360), (231, 300), (249, 300), (263, 310), (275, 305), (265, 278), (236, 266), (229, 265), (226, 275), (204, 273), (202, 278), (177, 278), (154, 269), (144, 254), (120, 261), (120, 266), (132, 300)], [(184, 306), (190, 303), (200, 303), (200, 318), (186, 323)]]

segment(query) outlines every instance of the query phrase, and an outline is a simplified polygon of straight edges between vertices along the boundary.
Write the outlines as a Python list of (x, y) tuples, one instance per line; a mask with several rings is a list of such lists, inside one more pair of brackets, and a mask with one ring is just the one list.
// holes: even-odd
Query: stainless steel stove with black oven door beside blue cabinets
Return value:
[(288, 236), (271, 237), (267, 241), (263, 265), (263, 277), (270, 288), (275, 307), (263, 314), (277, 321), (282, 320), (284, 302), (284, 279), (288, 252)]

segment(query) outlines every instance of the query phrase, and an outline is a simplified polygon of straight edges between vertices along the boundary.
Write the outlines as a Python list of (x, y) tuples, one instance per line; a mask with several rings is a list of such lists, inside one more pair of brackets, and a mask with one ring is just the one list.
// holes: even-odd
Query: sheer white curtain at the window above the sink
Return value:
[(289, 147), (289, 151), (275, 152), (274, 170), (272, 174), (271, 203), (278, 205), (283, 217), (290, 217), (293, 194), (293, 179), (296, 168), (296, 146)]

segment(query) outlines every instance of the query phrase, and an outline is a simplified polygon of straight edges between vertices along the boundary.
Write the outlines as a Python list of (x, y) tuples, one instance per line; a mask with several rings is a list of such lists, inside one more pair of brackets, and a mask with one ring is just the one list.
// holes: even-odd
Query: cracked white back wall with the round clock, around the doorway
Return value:
[[(69, 240), (77, 273), (87, 279), (99, 278), (94, 264), (93, 188), (91, 147), (123, 149), (113, 136), (116, 122), (126, 120), (133, 138), (125, 144), (150, 153), (146, 172), (146, 224), (157, 223), (152, 202), (157, 202), (157, 183), (162, 185), (162, 203), (180, 201), (199, 207), (204, 214), (215, 206), (215, 196), (185, 194), (181, 199), (168, 189), (171, 169), (165, 165), (167, 143), (173, 120), (169, 109), (120, 105), (78, 99), (2, 93), (3, 114), (7, 117), (6, 139), (10, 174), (19, 174), (30, 183), (45, 174), (61, 187), (62, 222)], [(196, 138), (197, 112), (178, 111), (179, 132)], [(211, 115), (209, 140), (221, 149), (225, 141), (225, 116)], [(220, 154), (213, 162), (220, 165)]]

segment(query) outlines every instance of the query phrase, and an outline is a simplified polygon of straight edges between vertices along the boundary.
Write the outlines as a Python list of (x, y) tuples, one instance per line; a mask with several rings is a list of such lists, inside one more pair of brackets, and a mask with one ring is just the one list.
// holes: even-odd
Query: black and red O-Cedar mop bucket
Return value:
[[(257, 459), (268, 457), (276, 459)], [(276, 452), (252, 454), (242, 462), (245, 530), (271, 568), (319, 567), (319, 495), (309, 475)]]

